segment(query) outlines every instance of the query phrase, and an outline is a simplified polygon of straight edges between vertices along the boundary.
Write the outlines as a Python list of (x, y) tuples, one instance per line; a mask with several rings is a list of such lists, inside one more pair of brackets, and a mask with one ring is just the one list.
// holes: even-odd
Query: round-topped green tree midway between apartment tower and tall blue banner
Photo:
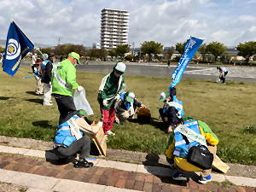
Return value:
[(151, 61), (152, 55), (160, 54), (163, 52), (163, 45), (154, 41), (144, 41), (142, 44), (142, 51), (148, 54), (148, 61)]

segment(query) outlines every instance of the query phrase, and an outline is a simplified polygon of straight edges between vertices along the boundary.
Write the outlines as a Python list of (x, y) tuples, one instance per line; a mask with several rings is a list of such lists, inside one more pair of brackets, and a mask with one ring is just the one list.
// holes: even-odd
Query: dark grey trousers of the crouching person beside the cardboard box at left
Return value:
[(84, 136), (71, 143), (68, 148), (57, 148), (55, 153), (61, 158), (66, 158), (73, 154), (77, 154), (79, 149), (81, 149), (79, 160), (84, 160), (90, 156), (90, 137)]

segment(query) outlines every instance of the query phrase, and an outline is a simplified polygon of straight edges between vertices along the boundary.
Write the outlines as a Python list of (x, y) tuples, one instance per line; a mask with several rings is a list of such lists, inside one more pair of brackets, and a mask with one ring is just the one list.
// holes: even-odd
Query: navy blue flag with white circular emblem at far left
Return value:
[(20, 62), (26, 54), (34, 49), (34, 44), (21, 32), (19, 26), (12, 20), (6, 40), (3, 72), (14, 76), (20, 67)]

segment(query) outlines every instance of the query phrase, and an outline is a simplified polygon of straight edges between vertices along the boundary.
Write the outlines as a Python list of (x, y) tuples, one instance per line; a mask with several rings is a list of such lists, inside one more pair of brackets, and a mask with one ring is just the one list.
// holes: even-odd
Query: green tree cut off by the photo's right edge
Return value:
[(246, 58), (246, 62), (248, 63), (249, 58), (256, 54), (256, 42), (255, 41), (249, 41), (244, 44), (239, 44), (236, 49), (238, 50), (237, 55), (243, 56)]

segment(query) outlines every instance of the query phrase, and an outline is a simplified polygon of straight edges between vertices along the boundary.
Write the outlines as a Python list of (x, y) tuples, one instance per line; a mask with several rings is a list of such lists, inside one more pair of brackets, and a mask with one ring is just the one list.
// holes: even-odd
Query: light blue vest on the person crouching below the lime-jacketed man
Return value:
[[(74, 115), (71, 119), (75, 120), (79, 117)], [(83, 137), (83, 132), (80, 131), (81, 137)], [(63, 144), (65, 148), (67, 148), (71, 143), (73, 143), (76, 137), (71, 135), (70, 125), (68, 121), (58, 126), (58, 131), (55, 136), (55, 143)]]

